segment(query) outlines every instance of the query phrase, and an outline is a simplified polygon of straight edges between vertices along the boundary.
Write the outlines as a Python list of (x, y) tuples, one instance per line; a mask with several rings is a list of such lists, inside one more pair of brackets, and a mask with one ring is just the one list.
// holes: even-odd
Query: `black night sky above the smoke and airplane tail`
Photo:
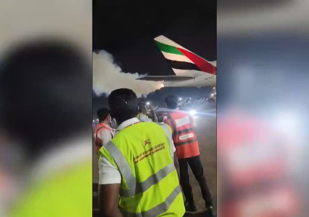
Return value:
[[(174, 75), (153, 39), (165, 35), (206, 60), (215, 61), (216, 10), (214, 0), (93, 0), (93, 50), (111, 53), (126, 73)], [(162, 95), (162, 91), (156, 92)]]

